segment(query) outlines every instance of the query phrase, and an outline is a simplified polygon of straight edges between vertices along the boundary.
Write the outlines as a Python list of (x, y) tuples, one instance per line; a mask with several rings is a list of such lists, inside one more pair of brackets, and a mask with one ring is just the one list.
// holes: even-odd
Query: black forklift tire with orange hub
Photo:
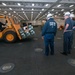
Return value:
[(14, 31), (7, 31), (4, 34), (4, 41), (7, 43), (13, 43), (17, 40), (17, 34)]

